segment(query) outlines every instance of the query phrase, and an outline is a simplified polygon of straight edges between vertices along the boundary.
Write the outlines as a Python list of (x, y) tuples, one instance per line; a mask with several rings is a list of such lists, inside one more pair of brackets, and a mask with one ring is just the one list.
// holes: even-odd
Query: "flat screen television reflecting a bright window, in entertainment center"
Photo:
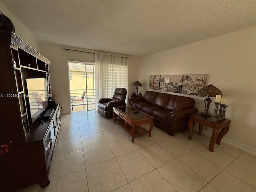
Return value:
[(48, 86), (46, 78), (26, 79), (28, 118), (33, 123), (48, 107)]

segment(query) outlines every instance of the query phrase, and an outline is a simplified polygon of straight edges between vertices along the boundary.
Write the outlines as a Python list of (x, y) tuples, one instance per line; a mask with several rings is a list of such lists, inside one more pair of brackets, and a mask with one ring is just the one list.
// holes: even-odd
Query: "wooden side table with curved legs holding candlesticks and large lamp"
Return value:
[[(188, 140), (192, 139), (192, 135), (193, 135), (193, 124), (194, 122), (199, 123), (199, 132), (198, 135), (202, 134), (202, 128), (203, 125), (212, 128), (212, 137), (211, 137), (211, 141), (210, 141), (210, 146), (209, 146), (209, 150), (211, 152), (213, 152), (213, 148), (214, 148), (214, 144), (215, 142), (220, 145), (220, 140), (222, 139), (222, 137), (228, 132), (229, 130), (229, 125), (230, 125), (230, 120), (226, 119), (226, 120), (221, 120), (218, 122), (212, 122), (210, 121), (210, 118), (208, 119), (204, 119), (201, 116), (201, 113), (197, 113), (197, 114), (192, 114), (190, 115), (190, 121), (188, 123), (188, 128), (189, 128), (189, 137)], [(220, 131), (220, 129), (222, 129)], [(220, 132), (219, 132), (220, 131)]]

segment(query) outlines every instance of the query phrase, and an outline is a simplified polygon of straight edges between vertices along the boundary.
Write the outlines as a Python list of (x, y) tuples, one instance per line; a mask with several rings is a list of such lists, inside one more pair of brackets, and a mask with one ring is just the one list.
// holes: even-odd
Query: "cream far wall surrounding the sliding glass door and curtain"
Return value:
[[(67, 60), (79, 60), (94, 62), (95, 56), (92, 53), (66, 51), (63, 48), (93, 52), (81, 48), (74, 48), (50, 43), (40, 43), (41, 54), (46, 56), (50, 61), (50, 78), (52, 91), (56, 93), (56, 102), (62, 103), (62, 114), (70, 113), (70, 93), (69, 93), (69, 76)], [(132, 83), (138, 78), (139, 58), (130, 57), (129, 75), (128, 75), (128, 95), (132, 92)]]

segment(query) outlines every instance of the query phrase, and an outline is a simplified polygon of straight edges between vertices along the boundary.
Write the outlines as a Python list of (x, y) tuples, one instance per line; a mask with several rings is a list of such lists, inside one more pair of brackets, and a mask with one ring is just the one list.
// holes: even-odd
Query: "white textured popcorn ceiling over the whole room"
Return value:
[(39, 42), (146, 56), (256, 25), (256, 1), (4, 1)]

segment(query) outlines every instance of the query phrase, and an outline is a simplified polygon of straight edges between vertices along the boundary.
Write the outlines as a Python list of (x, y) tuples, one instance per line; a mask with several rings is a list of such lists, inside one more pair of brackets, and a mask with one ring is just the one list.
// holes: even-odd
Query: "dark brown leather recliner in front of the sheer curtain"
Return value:
[(113, 117), (113, 107), (126, 106), (127, 90), (125, 88), (116, 88), (113, 98), (101, 98), (98, 104), (98, 113), (105, 118)]

